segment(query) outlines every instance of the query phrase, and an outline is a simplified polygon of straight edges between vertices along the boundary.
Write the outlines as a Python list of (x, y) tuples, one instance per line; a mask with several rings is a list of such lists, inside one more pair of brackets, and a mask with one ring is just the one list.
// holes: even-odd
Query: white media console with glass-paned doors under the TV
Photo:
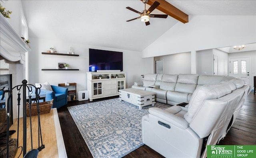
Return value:
[(86, 72), (86, 74), (90, 101), (98, 98), (119, 96), (118, 90), (126, 88), (126, 72), (102, 70), (100, 72)]

